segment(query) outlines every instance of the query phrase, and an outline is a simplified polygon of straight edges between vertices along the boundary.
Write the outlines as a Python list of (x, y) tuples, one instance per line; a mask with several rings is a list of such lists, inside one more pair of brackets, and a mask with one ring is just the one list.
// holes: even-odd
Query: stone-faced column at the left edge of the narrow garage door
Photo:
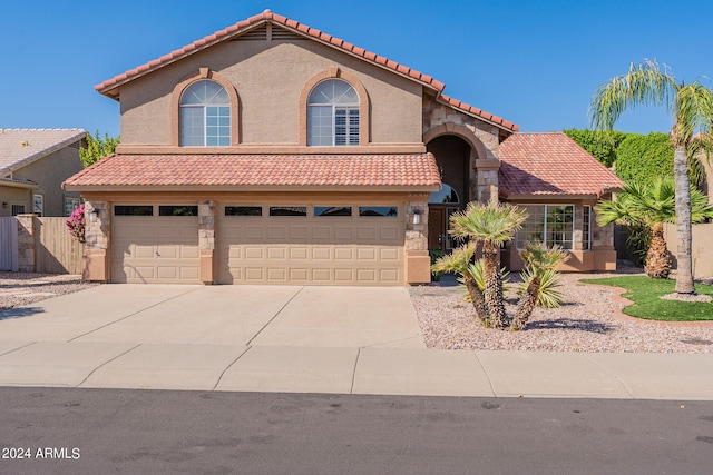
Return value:
[(111, 214), (107, 201), (85, 201), (85, 280), (109, 281), (109, 229)]

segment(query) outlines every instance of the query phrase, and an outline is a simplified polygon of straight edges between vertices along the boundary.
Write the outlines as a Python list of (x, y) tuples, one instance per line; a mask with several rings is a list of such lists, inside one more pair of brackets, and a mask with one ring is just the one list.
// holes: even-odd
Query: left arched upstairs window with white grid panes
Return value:
[(193, 82), (180, 96), (180, 146), (231, 145), (231, 98), (217, 82)]

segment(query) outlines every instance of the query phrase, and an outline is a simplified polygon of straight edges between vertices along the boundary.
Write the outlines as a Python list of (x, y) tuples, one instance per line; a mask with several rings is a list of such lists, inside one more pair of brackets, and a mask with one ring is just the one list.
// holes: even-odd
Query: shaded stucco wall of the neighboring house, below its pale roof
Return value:
[[(16, 170), (12, 176), (16, 179), (32, 180), (39, 185), (38, 188), (31, 190), (31, 194), (45, 196), (43, 216), (65, 216), (65, 196), (79, 198), (78, 191), (65, 191), (61, 188), (62, 181), (71, 177), (79, 170), (84, 169), (79, 159), (79, 149), (76, 147), (65, 147), (53, 154), (48, 155), (26, 167)], [(7, 187), (0, 188), (2, 196), (6, 194)], [(18, 194), (16, 188), (14, 196), (25, 196), (27, 204), (26, 212), (32, 212), (32, 197), (28, 197), (29, 190), (21, 190)], [(3, 198), (4, 201), (4, 198)], [(14, 201), (13, 201), (14, 202)], [(8, 211), (6, 215), (4, 211)], [(0, 216), (10, 216), (10, 207), (8, 209), (0, 208)]]

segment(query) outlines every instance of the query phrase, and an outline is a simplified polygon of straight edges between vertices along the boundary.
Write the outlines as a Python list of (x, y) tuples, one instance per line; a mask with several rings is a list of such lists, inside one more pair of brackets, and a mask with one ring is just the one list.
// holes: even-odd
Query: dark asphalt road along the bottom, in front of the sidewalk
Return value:
[(713, 471), (710, 402), (11, 387), (0, 400), (0, 473)]

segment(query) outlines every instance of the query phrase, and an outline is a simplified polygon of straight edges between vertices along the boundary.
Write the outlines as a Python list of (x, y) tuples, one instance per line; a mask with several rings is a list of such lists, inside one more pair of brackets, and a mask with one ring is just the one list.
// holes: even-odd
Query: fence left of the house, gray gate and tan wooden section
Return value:
[(0, 270), (81, 274), (84, 244), (67, 231), (67, 218), (19, 219), (0, 218)]

